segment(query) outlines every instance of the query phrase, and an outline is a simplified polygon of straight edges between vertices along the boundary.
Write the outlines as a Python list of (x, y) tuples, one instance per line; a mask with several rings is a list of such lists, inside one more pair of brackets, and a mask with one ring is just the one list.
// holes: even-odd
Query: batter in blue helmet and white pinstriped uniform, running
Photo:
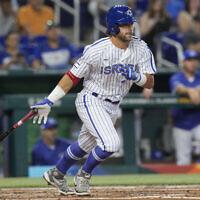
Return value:
[(83, 90), (76, 98), (76, 109), (83, 126), (78, 141), (71, 144), (56, 167), (44, 173), (44, 179), (64, 195), (73, 194), (64, 176), (86, 154), (84, 165), (74, 178), (75, 193), (89, 195), (92, 170), (120, 148), (114, 128), (119, 104), (133, 84), (152, 88), (156, 67), (154, 58), (142, 40), (132, 36), (135, 18), (131, 8), (116, 5), (107, 13), (107, 34), (84, 49), (82, 57), (60, 80), (42, 103), (31, 106), (38, 114), (33, 122), (47, 120), (52, 105), (81, 78)]

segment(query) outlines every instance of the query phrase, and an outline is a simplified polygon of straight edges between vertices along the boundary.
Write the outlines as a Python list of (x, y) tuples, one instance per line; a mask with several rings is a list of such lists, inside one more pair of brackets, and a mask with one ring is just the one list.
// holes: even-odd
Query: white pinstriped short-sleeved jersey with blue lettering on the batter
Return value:
[(142, 73), (156, 72), (151, 51), (144, 41), (135, 37), (126, 50), (117, 48), (109, 37), (98, 40), (85, 48), (83, 56), (70, 71), (78, 78), (84, 77), (86, 90), (118, 101), (133, 84), (133, 81), (121, 83), (124, 77), (119, 68), (122, 65), (131, 65)]

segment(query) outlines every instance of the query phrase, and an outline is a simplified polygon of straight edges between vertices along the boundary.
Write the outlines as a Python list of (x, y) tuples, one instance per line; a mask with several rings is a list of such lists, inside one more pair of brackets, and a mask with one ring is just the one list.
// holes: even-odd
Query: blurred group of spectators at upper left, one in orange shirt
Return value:
[(17, 3), (0, 0), (0, 69), (66, 69), (73, 64), (77, 50), (61, 35), (53, 9), (44, 0), (28, 0), (19, 8)]

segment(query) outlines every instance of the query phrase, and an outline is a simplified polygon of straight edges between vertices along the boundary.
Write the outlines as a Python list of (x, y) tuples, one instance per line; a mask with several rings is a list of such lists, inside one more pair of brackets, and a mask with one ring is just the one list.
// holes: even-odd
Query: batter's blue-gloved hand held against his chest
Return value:
[(121, 75), (125, 77), (125, 80), (122, 80), (122, 83), (126, 80), (133, 80), (137, 82), (140, 79), (140, 72), (132, 69), (129, 65), (120, 68)]

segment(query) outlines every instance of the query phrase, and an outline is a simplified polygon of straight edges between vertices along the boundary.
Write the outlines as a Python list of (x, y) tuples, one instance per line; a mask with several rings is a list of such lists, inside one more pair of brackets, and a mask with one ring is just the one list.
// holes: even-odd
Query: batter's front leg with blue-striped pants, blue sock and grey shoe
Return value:
[(90, 152), (85, 164), (75, 176), (75, 189), (78, 195), (90, 193), (89, 180), (92, 170), (120, 147), (111, 116), (102, 104), (92, 104), (92, 100), (87, 101), (86, 95), (83, 98), (84, 106), (80, 106), (77, 111), (86, 128), (96, 138), (97, 146)]

